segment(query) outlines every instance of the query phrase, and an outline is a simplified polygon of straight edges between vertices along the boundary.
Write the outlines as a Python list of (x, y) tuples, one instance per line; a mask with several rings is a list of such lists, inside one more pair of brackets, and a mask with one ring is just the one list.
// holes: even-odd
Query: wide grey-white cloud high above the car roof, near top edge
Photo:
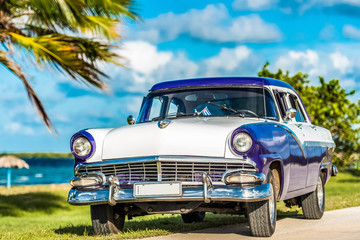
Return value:
[(281, 32), (277, 25), (252, 14), (232, 18), (223, 4), (191, 9), (183, 14), (172, 12), (145, 20), (135, 34), (137, 39), (153, 43), (171, 41), (182, 34), (212, 42), (277, 42)]

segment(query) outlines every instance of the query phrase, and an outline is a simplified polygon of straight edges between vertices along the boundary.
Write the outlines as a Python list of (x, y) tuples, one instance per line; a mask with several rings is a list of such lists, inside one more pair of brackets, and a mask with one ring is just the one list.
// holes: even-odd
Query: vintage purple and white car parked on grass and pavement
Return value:
[(269, 78), (162, 82), (129, 126), (71, 138), (75, 176), (68, 202), (90, 205), (96, 234), (122, 231), (125, 216), (244, 214), (254, 236), (271, 236), (276, 202), (324, 213), (337, 169), (330, 132), (311, 124), (300, 96)]

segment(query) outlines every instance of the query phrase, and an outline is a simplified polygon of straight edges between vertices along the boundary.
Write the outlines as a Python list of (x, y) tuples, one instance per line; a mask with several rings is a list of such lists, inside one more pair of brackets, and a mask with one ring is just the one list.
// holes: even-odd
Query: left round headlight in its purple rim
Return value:
[(70, 147), (77, 159), (85, 160), (95, 152), (95, 140), (90, 133), (80, 131), (71, 138)]

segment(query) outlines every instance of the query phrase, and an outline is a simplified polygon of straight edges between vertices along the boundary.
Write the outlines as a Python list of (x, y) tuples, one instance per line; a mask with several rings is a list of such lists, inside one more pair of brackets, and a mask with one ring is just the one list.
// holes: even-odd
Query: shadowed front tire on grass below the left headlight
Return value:
[(96, 235), (119, 233), (124, 228), (125, 213), (122, 205), (91, 205), (91, 221)]

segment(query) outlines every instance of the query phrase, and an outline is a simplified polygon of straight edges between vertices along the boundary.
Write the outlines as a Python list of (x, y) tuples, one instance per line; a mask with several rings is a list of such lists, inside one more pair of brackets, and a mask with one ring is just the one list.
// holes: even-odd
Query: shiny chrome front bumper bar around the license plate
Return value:
[[(116, 203), (135, 203), (135, 202), (182, 202), (182, 201), (204, 201), (204, 189), (183, 188), (183, 195), (179, 197), (154, 197), (154, 198), (135, 198), (133, 188), (118, 189), (114, 192), (113, 199)], [(257, 202), (269, 199), (271, 196), (271, 186), (269, 183), (244, 188), (236, 186), (214, 186), (208, 192), (208, 198), (212, 202)], [(78, 188), (70, 189), (68, 202), (72, 205), (93, 205), (107, 204), (109, 189), (82, 190)]]

